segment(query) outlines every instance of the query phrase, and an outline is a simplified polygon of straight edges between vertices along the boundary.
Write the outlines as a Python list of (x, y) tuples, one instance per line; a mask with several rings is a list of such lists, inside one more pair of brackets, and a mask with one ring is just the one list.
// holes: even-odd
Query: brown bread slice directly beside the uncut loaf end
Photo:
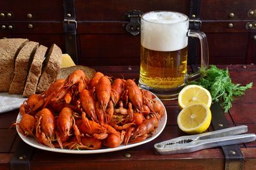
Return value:
[(10, 85), (9, 94), (22, 94), (30, 64), (39, 43), (29, 41), (21, 48), (15, 60), (14, 76)]

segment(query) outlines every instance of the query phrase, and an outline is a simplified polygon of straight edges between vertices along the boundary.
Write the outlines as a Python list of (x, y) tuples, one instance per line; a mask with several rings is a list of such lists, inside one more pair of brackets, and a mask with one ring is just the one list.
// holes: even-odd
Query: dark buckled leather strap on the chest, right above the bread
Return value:
[(76, 42), (76, 13), (74, 0), (63, 0), (63, 31), (65, 34), (66, 53), (78, 64)]

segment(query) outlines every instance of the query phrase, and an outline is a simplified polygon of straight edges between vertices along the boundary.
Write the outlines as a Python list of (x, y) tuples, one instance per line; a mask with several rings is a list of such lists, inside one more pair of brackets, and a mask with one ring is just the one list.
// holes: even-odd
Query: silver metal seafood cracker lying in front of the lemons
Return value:
[(254, 141), (256, 139), (255, 134), (243, 134), (247, 131), (248, 128), (246, 125), (240, 125), (203, 134), (181, 136), (179, 138), (156, 143), (154, 148), (157, 153), (168, 155), (174, 153), (189, 153), (206, 148), (214, 148), (216, 146)]

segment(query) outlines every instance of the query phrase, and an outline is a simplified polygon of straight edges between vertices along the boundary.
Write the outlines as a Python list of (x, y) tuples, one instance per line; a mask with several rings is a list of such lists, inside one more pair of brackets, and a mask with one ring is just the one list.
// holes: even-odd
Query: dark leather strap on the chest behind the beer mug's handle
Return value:
[[(190, 1), (189, 10), (189, 29), (199, 31), (201, 27), (200, 18), (200, 0)], [(188, 38), (188, 64), (196, 64), (196, 52), (198, 51), (198, 38)]]

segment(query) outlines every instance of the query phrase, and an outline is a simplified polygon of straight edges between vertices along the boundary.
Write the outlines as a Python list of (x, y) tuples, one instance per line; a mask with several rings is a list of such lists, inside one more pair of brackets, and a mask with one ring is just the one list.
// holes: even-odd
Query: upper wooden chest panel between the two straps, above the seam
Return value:
[(123, 20), (123, 14), (129, 10), (140, 10), (145, 13), (153, 10), (172, 10), (189, 14), (189, 0), (131, 0), (115, 1), (110, 0), (108, 3), (100, 1), (76, 1), (77, 20)]

